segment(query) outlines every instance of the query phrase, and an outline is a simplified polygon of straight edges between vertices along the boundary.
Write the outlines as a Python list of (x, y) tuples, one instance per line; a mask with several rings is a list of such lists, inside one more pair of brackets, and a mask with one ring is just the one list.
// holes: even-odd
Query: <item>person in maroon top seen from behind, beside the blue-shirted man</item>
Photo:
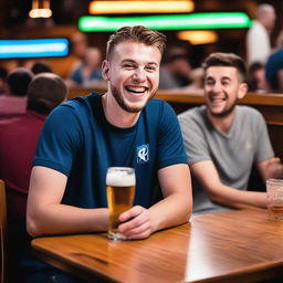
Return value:
[(66, 85), (60, 76), (35, 75), (28, 88), (27, 113), (0, 122), (0, 178), (7, 189), (9, 282), (22, 282), (19, 261), (29, 243), (27, 199), (39, 135), (48, 114), (65, 101), (66, 94)]

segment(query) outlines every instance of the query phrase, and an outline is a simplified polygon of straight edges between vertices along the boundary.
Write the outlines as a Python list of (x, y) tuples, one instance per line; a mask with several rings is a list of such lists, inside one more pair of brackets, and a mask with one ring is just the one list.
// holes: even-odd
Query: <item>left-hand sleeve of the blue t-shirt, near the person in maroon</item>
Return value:
[(33, 166), (70, 175), (81, 135), (74, 112), (67, 105), (62, 105), (49, 115), (40, 135)]

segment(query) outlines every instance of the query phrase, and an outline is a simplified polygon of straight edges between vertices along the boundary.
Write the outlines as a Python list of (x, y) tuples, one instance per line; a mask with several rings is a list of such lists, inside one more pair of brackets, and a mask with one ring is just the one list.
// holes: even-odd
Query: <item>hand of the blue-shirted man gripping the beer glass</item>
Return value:
[(118, 230), (127, 239), (146, 239), (154, 231), (149, 210), (140, 206), (123, 212), (119, 221), (123, 223), (119, 224)]

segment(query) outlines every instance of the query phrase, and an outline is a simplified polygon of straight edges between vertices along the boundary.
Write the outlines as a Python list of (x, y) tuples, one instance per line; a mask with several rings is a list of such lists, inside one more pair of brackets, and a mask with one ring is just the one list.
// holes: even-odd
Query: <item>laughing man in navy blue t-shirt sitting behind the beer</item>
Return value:
[[(179, 124), (166, 102), (151, 99), (165, 40), (140, 25), (120, 28), (109, 36), (103, 61), (106, 93), (69, 101), (49, 116), (30, 181), (27, 226), (32, 237), (106, 231), (106, 170), (113, 166), (136, 172), (134, 207), (119, 216), (118, 230), (127, 239), (146, 239), (188, 221), (191, 187)], [(28, 282), (62, 276), (41, 264), (38, 272), (30, 269)]]

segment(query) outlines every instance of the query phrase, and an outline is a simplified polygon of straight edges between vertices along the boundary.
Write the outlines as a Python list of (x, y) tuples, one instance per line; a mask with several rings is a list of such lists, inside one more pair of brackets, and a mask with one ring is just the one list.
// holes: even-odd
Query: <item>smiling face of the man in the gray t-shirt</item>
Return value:
[(208, 112), (214, 117), (232, 113), (237, 99), (247, 93), (247, 84), (241, 83), (238, 70), (232, 66), (210, 66), (205, 76), (205, 98)]

